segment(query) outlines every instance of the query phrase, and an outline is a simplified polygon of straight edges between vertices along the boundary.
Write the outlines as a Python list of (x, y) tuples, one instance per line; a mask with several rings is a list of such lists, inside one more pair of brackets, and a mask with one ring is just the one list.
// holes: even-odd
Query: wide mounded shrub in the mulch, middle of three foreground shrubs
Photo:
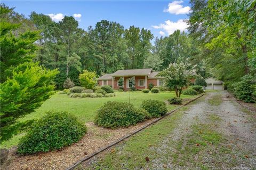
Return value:
[(108, 128), (127, 127), (149, 118), (146, 110), (125, 102), (107, 102), (97, 112), (94, 123)]

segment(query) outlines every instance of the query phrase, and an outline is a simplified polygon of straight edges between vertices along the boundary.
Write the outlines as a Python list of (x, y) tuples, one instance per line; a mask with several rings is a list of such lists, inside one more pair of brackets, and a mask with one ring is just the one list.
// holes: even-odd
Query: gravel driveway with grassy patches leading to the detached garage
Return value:
[[(209, 92), (188, 107), (162, 142), (149, 148), (156, 155), (145, 166), (121, 169), (256, 169), (256, 113), (226, 91)], [(122, 149), (124, 145), (116, 146), (119, 155), (131, 154)], [(109, 152), (78, 169), (112, 169), (110, 163), (104, 164)], [(125, 165), (125, 160), (116, 164)]]

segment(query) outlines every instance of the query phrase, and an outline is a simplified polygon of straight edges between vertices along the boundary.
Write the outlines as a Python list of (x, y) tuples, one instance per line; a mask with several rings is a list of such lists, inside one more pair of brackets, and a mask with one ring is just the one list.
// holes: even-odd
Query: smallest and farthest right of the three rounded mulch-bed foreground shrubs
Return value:
[(165, 102), (153, 99), (143, 100), (141, 108), (147, 110), (151, 117), (161, 117), (167, 112)]

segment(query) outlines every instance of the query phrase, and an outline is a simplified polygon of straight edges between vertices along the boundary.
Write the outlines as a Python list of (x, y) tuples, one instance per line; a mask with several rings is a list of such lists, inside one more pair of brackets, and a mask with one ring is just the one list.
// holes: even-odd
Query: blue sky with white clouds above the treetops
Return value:
[(14, 11), (29, 17), (32, 11), (49, 15), (55, 22), (73, 16), (79, 28), (87, 30), (98, 21), (115, 21), (129, 28), (150, 29), (155, 37), (168, 36), (174, 30), (186, 31), (188, 1), (1, 1)]

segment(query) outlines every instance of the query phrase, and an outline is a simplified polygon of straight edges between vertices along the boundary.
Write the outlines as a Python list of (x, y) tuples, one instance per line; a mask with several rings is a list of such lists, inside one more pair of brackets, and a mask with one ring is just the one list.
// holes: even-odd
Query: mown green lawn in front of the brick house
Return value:
[[(49, 100), (45, 101), (40, 108), (38, 108), (32, 114), (26, 115), (20, 118), (18, 122), (22, 123), (26, 120), (41, 118), (45, 115), (46, 111), (68, 111), (71, 114), (76, 115), (82, 122), (92, 122), (95, 117), (95, 111), (99, 109), (103, 103), (107, 101), (120, 101), (130, 102), (134, 106), (139, 107), (141, 102), (146, 99), (156, 99), (166, 101), (169, 98), (175, 96), (174, 92), (160, 92), (160, 93), (142, 93), (137, 92), (115, 92), (116, 96), (112, 98), (70, 98), (66, 94), (55, 94)], [(182, 95), (181, 98), (195, 98), (195, 96)], [(171, 104), (167, 105), (168, 110), (174, 109), (176, 106)], [(24, 134), (24, 133), (23, 133)], [(13, 145), (17, 145), (22, 133), (18, 133), (13, 136), (9, 141), (3, 141), (1, 148), (10, 148)]]

